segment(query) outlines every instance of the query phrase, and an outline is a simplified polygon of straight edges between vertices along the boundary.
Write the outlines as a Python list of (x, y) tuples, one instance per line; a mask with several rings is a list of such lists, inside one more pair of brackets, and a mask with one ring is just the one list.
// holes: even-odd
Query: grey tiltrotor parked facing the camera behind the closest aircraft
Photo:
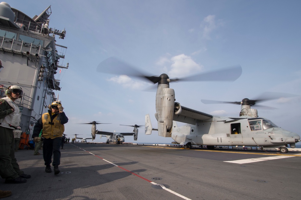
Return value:
[[(122, 125), (120, 124), (120, 126), (132, 126), (134, 127), (133, 132), (131, 133), (112, 133), (112, 132), (107, 132), (107, 131), (98, 131), (96, 134), (101, 134), (101, 135), (106, 135), (107, 137), (107, 144), (108, 143), (117, 143), (118, 138), (120, 138), (120, 143), (124, 143), (124, 136), (129, 136), (129, 135), (133, 135), (134, 136), (134, 140), (138, 139), (138, 128), (141, 127), (141, 125)], [(100, 136), (101, 138), (101, 136)]]

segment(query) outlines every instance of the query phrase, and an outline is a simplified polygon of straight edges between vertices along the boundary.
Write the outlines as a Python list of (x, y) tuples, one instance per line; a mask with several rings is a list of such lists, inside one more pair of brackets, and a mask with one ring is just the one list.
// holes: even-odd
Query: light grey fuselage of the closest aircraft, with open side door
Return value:
[(175, 127), (171, 137), (179, 144), (275, 148), (288, 145), (295, 148), (295, 143), (300, 140), (298, 134), (277, 127), (265, 118), (232, 120), (220, 116), (214, 116), (212, 121), (197, 122), (196, 125)]

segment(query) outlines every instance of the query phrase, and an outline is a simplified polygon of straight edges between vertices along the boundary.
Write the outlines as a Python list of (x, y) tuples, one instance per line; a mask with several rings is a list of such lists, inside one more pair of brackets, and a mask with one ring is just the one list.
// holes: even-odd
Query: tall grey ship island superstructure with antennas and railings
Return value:
[(55, 91), (61, 88), (56, 74), (69, 66), (59, 64), (67, 47), (56, 44), (56, 38), (64, 39), (66, 31), (50, 28), (50, 15), (50, 6), (31, 18), (0, 3), (0, 96), (5, 97), (10, 85), (23, 89), (15, 103), (22, 114), (21, 130), (30, 137), (35, 122), (57, 100)]

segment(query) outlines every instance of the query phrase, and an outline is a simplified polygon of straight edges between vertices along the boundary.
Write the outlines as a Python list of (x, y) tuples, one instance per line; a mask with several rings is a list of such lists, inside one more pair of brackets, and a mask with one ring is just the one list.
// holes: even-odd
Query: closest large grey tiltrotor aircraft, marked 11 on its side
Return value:
[[(191, 145), (206, 145), (209, 149), (213, 149), (214, 146), (260, 146), (279, 148), (280, 152), (286, 153), (288, 145), (295, 148), (295, 144), (300, 141), (298, 134), (286, 131), (266, 118), (248, 115), (228, 118), (181, 106), (175, 102), (175, 91), (169, 88), (169, 83), (174, 81), (234, 81), (241, 75), (240, 66), (171, 79), (167, 74), (145, 75), (132, 66), (110, 57), (98, 65), (97, 71), (143, 77), (154, 84), (158, 83), (155, 113), (158, 129), (155, 130), (159, 136), (172, 137), (176, 143), (186, 148), (190, 148)], [(187, 124), (177, 127), (173, 125), (173, 121)], [(152, 130), (150, 117), (146, 115), (145, 134), (151, 134)]]

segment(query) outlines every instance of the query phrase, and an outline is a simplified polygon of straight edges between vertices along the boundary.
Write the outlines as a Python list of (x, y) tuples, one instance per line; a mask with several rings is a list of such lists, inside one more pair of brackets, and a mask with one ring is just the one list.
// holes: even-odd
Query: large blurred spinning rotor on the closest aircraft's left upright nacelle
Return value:
[(197, 75), (192, 75), (184, 78), (169, 79), (168, 75), (161, 74), (160, 76), (149, 76), (145, 72), (141, 72), (135, 69), (133, 66), (126, 64), (115, 57), (107, 58), (102, 61), (98, 67), (98, 72), (117, 74), (117, 75), (128, 75), (138, 78), (146, 78), (147, 80), (155, 83), (160, 81), (164, 82), (178, 82), (178, 81), (235, 81), (240, 77), (242, 73), (241, 66), (234, 66), (225, 69), (219, 69), (212, 72), (200, 73)]

